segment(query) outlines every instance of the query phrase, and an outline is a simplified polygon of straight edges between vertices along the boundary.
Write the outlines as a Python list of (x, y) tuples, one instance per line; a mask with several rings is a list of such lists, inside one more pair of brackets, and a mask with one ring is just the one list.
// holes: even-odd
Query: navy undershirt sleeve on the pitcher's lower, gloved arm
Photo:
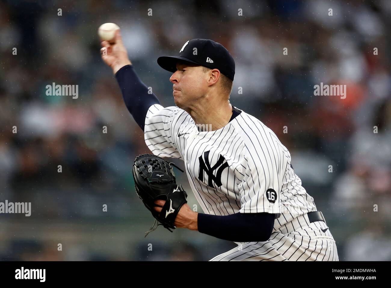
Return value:
[(267, 241), (273, 231), (275, 215), (266, 212), (227, 216), (198, 213), (198, 231), (233, 242)]

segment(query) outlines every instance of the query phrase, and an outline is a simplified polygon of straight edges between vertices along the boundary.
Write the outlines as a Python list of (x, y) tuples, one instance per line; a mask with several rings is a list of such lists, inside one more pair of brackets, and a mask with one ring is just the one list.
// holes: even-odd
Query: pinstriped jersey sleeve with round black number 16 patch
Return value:
[[(264, 135), (263, 135), (264, 136)], [(246, 141), (240, 185), (240, 213), (281, 213), (282, 171), (287, 161), (274, 139), (253, 137)]]

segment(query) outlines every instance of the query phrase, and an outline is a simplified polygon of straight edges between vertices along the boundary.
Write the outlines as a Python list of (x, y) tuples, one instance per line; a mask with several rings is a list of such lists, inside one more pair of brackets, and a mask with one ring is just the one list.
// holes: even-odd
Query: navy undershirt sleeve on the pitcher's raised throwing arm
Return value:
[(141, 81), (132, 65), (125, 65), (115, 73), (120, 86), (122, 97), (130, 114), (144, 131), (145, 116), (149, 107), (160, 104), (152, 93), (148, 94), (148, 87)]

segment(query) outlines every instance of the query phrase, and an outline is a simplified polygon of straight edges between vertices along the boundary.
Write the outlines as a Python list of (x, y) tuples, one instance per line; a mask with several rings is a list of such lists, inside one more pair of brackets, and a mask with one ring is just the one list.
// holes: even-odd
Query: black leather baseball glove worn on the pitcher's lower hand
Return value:
[[(172, 166), (181, 170), (174, 163), (152, 155), (141, 154), (135, 159), (133, 165), (133, 178), (138, 197), (143, 201), (145, 207), (151, 211), (152, 216), (160, 222), (155, 228), (156, 220), (149, 231), (145, 232), (147, 237), (149, 232), (163, 225), (170, 232), (175, 229), (174, 221), (183, 204), (187, 203), (187, 193), (181, 185), (176, 184), (175, 174)], [(183, 172), (183, 170), (181, 170)], [(161, 212), (154, 210), (156, 200), (165, 200)]]

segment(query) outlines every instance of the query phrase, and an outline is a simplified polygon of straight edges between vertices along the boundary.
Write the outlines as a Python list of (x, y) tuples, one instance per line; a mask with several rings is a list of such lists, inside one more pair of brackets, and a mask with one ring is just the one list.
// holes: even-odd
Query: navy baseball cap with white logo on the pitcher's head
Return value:
[(160, 56), (158, 64), (161, 68), (174, 73), (178, 60), (210, 69), (219, 69), (222, 74), (232, 81), (235, 76), (235, 61), (231, 54), (223, 45), (209, 39), (188, 40), (179, 51), (179, 56)]

